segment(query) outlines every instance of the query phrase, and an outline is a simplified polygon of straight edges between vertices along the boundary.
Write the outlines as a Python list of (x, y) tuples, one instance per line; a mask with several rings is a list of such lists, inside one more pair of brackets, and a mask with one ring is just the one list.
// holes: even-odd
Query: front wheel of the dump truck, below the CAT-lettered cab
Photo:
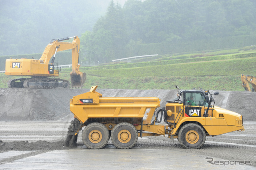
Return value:
[(180, 145), (188, 149), (200, 148), (206, 139), (204, 129), (195, 123), (189, 123), (182, 126), (178, 133)]

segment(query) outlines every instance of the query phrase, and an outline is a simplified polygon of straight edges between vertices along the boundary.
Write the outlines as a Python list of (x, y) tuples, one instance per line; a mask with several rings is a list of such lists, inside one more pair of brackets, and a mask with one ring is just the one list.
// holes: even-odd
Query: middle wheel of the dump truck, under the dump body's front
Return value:
[(111, 140), (119, 149), (130, 149), (138, 140), (138, 131), (132, 124), (123, 122), (113, 128)]

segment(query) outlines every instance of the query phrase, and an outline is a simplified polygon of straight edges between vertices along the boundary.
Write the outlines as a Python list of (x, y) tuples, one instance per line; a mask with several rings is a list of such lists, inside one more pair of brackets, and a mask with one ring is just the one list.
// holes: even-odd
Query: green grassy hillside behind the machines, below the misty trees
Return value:
[[(218, 55), (225, 52), (212, 53)], [(84, 88), (98, 85), (99, 88), (113, 89), (174, 89), (178, 85), (183, 89), (243, 91), (240, 76), (256, 74), (256, 52), (232, 50), (226, 53), (235, 54), (196, 58), (198, 54), (165, 56), (154, 62), (83, 67), (80, 70), (87, 74)], [(62, 69), (60, 78), (70, 80), (70, 71)], [(0, 87), (6, 88), (6, 82), (11, 78), (13, 76), (0, 74)]]

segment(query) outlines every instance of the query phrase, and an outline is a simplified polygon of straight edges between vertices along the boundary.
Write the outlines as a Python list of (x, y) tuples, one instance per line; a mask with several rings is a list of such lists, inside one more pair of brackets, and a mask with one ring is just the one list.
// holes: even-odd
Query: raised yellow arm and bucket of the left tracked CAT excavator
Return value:
[[(61, 42), (74, 38), (72, 42)], [(49, 64), (53, 63), (56, 52), (72, 49), (72, 72), (70, 72), (71, 86), (82, 87), (86, 80), (86, 73), (82, 73), (79, 70), (80, 64), (78, 64), (79, 52), (80, 52), (80, 39), (78, 36), (66, 37), (61, 39), (54, 39), (46, 46), (41, 56), (40, 63)], [(51, 62), (50, 59), (52, 58)]]

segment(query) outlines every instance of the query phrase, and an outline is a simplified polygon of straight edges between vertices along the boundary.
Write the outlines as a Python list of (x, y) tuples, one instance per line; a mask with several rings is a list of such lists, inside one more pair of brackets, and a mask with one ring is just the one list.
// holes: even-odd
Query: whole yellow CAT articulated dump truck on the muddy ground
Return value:
[(157, 109), (159, 98), (102, 97), (97, 87), (70, 100), (70, 111), (81, 123), (75, 135), (85, 126), (82, 141), (91, 149), (104, 148), (110, 137), (117, 148), (128, 149), (138, 137), (161, 135), (192, 149), (200, 148), (206, 136), (244, 130), (242, 116), (214, 106), (209, 91), (178, 90), (176, 99)]

